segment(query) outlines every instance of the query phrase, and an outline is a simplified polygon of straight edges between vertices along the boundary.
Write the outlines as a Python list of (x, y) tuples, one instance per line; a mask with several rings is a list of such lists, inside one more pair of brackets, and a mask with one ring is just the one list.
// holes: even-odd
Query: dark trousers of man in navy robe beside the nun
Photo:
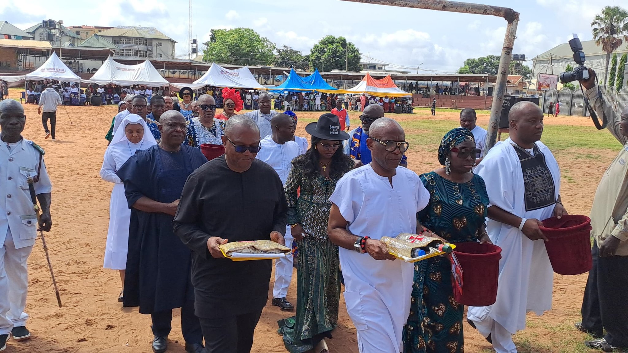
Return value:
[[(153, 335), (158, 337), (168, 337), (172, 329), (172, 310), (154, 312), (151, 314), (153, 320)], [(188, 302), (181, 307), (181, 333), (187, 343), (203, 343), (203, 332), (200, 329), (198, 317), (194, 315), (194, 302)]]

